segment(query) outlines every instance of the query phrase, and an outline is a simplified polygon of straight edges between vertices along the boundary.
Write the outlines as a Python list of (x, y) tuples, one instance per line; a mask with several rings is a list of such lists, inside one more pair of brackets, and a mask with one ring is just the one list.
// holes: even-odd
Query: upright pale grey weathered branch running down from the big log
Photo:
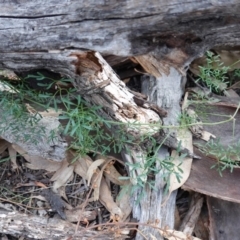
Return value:
[[(161, 62), (160, 62), (161, 64)], [(142, 91), (149, 97), (149, 100), (157, 103), (159, 107), (164, 107), (168, 110), (168, 116), (163, 118), (164, 125), (178, 125), (178, 116), (181, 114), (180, 100), (183, 94), (183, 85), (185, 77), (179, 71), (170, 67), (169, 75), (162, 73), (161, 77), (153, 76), (142, 77)], [(169, 157), (168, 149), (163, 146), (158, 152), (158, 160), (162, 161)], [(159, 168), (160, 162), (156, 162), (156, 168)], [(141, 189), (139, 192), (145, 191), (140, 204), (133, 205), (133, 216), (139, 219), (139, 222), (148, 222), (156, 224), (164, 228), (174, 228), (174, 211), (177, 191), (174, 191), (167, 203), (161, 206), (166, 196), (164, 196), (165, 182), (163, 179), (164, 169), (155, 176), (155, 188), (157, 191), (150, 189), (148, 186)], [(135, 196), (135, 200), (137, 195)], [(142, 231), (147, 236), (152, 234), (157, 239), (163, 239), (159, 232), (150, 227), (139, 226), (139, 231)], [(141, 234), (137, 234), (137, 239), (144, 239)]]

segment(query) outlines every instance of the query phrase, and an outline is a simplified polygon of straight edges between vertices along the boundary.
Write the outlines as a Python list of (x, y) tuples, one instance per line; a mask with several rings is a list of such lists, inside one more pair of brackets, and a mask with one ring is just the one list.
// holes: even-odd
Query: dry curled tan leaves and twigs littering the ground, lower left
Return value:
[[(9, 166), (8, 161), (5, 164), (9, 171), (18, 173), (15, 176), (15, 181), (10, 180), (12, 184), (15, 182), (15, 186), (18, 186), (16, 188), (13, 185), (13, 189), (17, 189), (23, 196), (29, 196), (31, 208), (42, 209), (41, 211), (39, 209), (41, 216), (44, 213), (48, 215), (49, 210), (47, 209), (50, 208), (62, 219), (72, 222), (77, 222), (80, 219), (84, 225), (89, 221), (96, 222), (97, 209), (101, 209), (102, 213), (105, 212), (104, 209), (107, 209), (110, 215), (106, 215), (108, 218), (106, 221), (109, 219), (114, 219), (114, 221), (129, 219), (131, 214), (129, 198), (122, 199), (121, 204), (119, 204), (115, 200), (117, 195), (112, 196), (112, 184), (125, 185), (127, 183), (126, 180), (117, 179), (122, 175), (113, 166), (115, 158), (108, 157), (93, 161), (89, 156), (81, 157), (74, 150), (69, 150), (64, 161), (54, 162), (39, 156), (29, 155), (20, 146), (8, 143), (3, 139), (0, 143), (0, 154), (8, 149), (12, 164)], [(72, 159), (76, 159), (76, 161), (71, 163)], [(19, 172), (18, 169), (21, 171)], [(28, 177), (26, 178), (26, 176)], [(24, 182), (20, 184), (18, 178), (24, 179)], [(48, 179), (45, 181), (46, 184), (43, 183), (44, 178)], [(18, 183), (16, 184), (16, 182)], [(9, 188), (9, 186), (7, 187)], [(29, 190), (27, 190), (28, 188)], [(84, 199), (90, 188), (93, 190), (93, 199)], [(73, 192), (76, 194), (70, 195)], [(40, 196), (44, 198), (42, 199)], [(39, 200), (37, 201), (37, 199)], [(6, 201), (8, 202), (8, 199)], [(26, 209), (28, 209), (29, 203), (27, 202), (25, 199), (20, 205), (26, 204)], [(84, 202), (86, 202), (86, 206), (82, 209)]]

